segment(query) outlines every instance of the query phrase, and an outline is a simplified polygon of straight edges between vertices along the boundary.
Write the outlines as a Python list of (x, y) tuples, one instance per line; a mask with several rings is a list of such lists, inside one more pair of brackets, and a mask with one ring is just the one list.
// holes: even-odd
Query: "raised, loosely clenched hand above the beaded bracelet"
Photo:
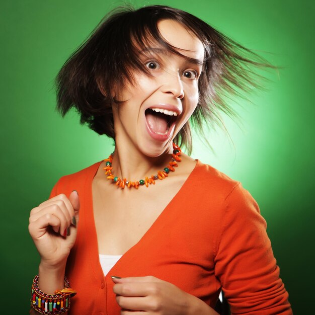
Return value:
[(52, 268), (65, 265), (75, 242), (79, 209), (80, 200), (74, 190), (69, 198), (59, 194), (31, 210), (29, 232), (41, 264)]

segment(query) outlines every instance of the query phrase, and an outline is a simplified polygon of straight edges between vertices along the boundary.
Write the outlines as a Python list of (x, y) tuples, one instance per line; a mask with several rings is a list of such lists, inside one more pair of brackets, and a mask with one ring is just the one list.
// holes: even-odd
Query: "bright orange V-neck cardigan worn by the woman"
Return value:
[(211, 307), (222, 288), (232, 314), (292, 314), (256, 201), (241, 183), (199, 160), (140, 241), (104, 277), (92, 199), (92, 180), (101, 162), (61, 177), (50, 194), (69, 196), (75, 189), (81, 202), (66, 267), (78, 292), (69, 315), (120, 314), (111, 275), (152, 275)]

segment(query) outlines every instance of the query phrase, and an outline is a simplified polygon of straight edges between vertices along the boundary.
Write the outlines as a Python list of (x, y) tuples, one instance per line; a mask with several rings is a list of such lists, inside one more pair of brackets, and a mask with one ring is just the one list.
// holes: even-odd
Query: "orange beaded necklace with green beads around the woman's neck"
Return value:
[(155, 181), (157, 179), (163, 180), (166, 177), (168, 177), (170, 171), (175, 172), (175, 167), (178, 167), (177, 162), (181, 162), (181, 157), (179, 156), (181, 154), (182, 150), (181, 148), (173, 142), (173, 154), (172, 154), (172, 159), (169, 162), (169, 165), (164, 168), (163, 171), (158, 171), (156, 175), (151, 175), (150, 178), (145, 177), (145, 179), (140, 179), (139, 181), (131, 182), (127, 181), (125, 178), (120, 179), (117, 176), (114, 176), (112, 174), (112, 161), (113, 161), (113, 156), (114, 152), (111, 153), (108, 156), (108, 159), (105, 159), (104, 161), (106, 162), (106, 167), (104, 168), (105, 174), (108, 175), (107, 179), (112, 180), (112, 182), (119, 188), (124, 189), (125, 187), (131, 188), (134, 187), (135, 189), (138, 189), (139, 186), (145, 185), (146, 187), (149, 186), (149, 184), (155, 185)]

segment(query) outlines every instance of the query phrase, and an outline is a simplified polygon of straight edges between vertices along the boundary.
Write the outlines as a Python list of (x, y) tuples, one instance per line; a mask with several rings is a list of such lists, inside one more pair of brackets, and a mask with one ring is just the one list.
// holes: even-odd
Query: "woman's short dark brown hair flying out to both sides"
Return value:
[(119, 102), (112, 96), (114, 87), (124, 87), (126, 80), (133, 83), (135, 70), (149, 75), (139, 60), (139, 49), (158, 43), (182, 55), (161, 37), (157, 22), (164, 19), (175, 20), (193, 32), (205, 49), (197, 108), (175, 138), (179, 145), (186, 146), (189, 154), (192, 149), (190, 123), (200, 128), (204, 136), (204, 121), (220, 125), (220, 111), (229, 116), (236, 114), (226, 98), (260, 87), (257, 79), (261, 76), (253, 67), (274, 67), (185, 11), (166, 6), (138, 10), (120, 7), (103, 18), (60, 69), (55, 81), (56, 108), (62, 117), (74, 107), (81, 116), (81, 124), (88, 123), (98, 134), (114, 139), (112, 104)]

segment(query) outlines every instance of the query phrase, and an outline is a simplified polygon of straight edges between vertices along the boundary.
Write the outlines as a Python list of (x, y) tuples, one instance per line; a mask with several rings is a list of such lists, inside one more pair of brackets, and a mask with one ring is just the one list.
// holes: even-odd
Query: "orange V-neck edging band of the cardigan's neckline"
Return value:
[[(179, 191), (175, 194), (175, 196), (171, 199), (171, 201), (167, 204), (167, 206), (163, 209), (163, 211), (160, 213), (159, 216), (154, 220), (152, 225), (147, 229), (147, 231), (142, 235), (140, 240), (133, 245), (131, 248), (129, 248), (122, 256), (121, 258), (116, 262), (116, 264), (109, 270), (107, 275), (104, 276), (100, 259), (99, 259), (99, 250), (98, 250), (98, 242), (97, 242), (97, 233), (96, 233), (96, 226), (95, 226), (95, 220), (94, 220), (94, 209), (93, 209), (93, 191), (92, 191), (92, 182), (94, 177), (96, 176), (96, 173), (99, 169), (100, 164), (103, 162), (101, 160), (100, 162), (97, 162), (93, 165), (93, 168), (91, 170), (91, 173), (89, 176), (87, 176), (86, 183), (85, 183), (85, 198), (84, 198), (84, 229), (86, 231), (84, 232), (85, 235), (90, 235), (90, 239), (86, 240), (85, 242), (89, 242), (87, 245), (87, 249), (89, 250), (89, 256), (91, 261), (91, 269), (94, 273), (94, 276), (96, 279), (99, 279), (101, 276), (105, 279), (110, 277), (110, 275), (115, 275), (116, 273), (119, 273), (119, 267), (124, 263), (124, 261), (127, 259), (133, 251), (139, 247), (139, 244), (143, 243), (145, 239), (148, 238), (148, 235), (156, 229), (156, 226), (159, 225), (160, 221), (163, 221), (163, 219), (168, 215), (168, 212), (171, 211), (172, 205), (176, 202), (178, 198), (181, 198), (180, 196), (182, 194), (185, 195), (185, 191), (190, 187), (189, 183), (194, 177), (195, 172), (197, 171), (198, 167), (201, 166), (201, 162), (196, 159), (197, 161), (195, 167), (183, 183), (182, 187), (179, 189)], [(187, 188), (186, 188), (187, 187)], [(188, 191), (187, 191), (188, 192)]]

